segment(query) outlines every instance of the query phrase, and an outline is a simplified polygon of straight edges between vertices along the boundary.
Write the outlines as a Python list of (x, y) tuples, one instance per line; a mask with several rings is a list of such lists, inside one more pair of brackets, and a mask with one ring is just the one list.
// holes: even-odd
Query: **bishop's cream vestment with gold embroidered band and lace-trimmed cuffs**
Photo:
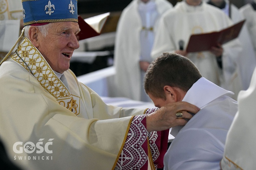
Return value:
[(146, 114), (156, 108), (106, 105), (71, 70), (56, 74), (22, 35), (0, 63), (0, 138), (15, 164), (28, 170), (162, 165), (168, 130), (146, 130)]

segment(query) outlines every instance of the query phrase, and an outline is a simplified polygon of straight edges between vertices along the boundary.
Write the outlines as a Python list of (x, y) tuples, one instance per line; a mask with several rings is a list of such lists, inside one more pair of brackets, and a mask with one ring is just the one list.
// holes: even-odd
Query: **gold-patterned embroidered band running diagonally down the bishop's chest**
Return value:
[(27, 38), (23, 38), (16, 52), (18, 55), (13, 53), (11, 56), (13, 60), (31, 72), (42, 87), (55, 97), (60, 105), (68, 108), (75, 115), (79, 115), (80, 97), (70, 94), (44, 57), (41, 56), (40, 52)]

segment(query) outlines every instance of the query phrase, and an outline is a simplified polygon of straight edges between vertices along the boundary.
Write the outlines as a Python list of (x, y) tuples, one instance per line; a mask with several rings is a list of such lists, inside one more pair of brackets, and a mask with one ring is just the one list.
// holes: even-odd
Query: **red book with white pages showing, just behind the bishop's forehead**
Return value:
[(83, 19), (78, 16), (78, 24), (80, 27), (80, 32), (78, 33), (79, 40), (95, 37), (100, 35), (106, 20), (108, 19), (110, 13), (104, 13), (96, 15), (90, 18)]

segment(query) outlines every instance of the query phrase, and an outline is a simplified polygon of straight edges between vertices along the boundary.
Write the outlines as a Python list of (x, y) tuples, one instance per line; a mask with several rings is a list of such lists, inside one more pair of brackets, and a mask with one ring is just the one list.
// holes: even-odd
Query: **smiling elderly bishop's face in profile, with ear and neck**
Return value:
[(54, 71), (63, 73), (69, 69), (73, 51), (79, 48), (79, 31), (77, 22), (68, 21), (52, 23), (46, 37), (39, 33), (37, 48)]

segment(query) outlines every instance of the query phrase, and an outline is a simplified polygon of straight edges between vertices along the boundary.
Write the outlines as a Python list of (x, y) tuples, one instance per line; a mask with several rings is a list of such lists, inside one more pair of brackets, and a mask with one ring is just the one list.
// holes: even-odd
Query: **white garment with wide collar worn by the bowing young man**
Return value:
[(227, 94), (233, 93), (205, 78), (187, 91), (182, 101), (201, 110), (184, 127), (172, 128), (175, 139), (165, 154), (166, 170), (219, 170), (226, 135), (238, 107)]

